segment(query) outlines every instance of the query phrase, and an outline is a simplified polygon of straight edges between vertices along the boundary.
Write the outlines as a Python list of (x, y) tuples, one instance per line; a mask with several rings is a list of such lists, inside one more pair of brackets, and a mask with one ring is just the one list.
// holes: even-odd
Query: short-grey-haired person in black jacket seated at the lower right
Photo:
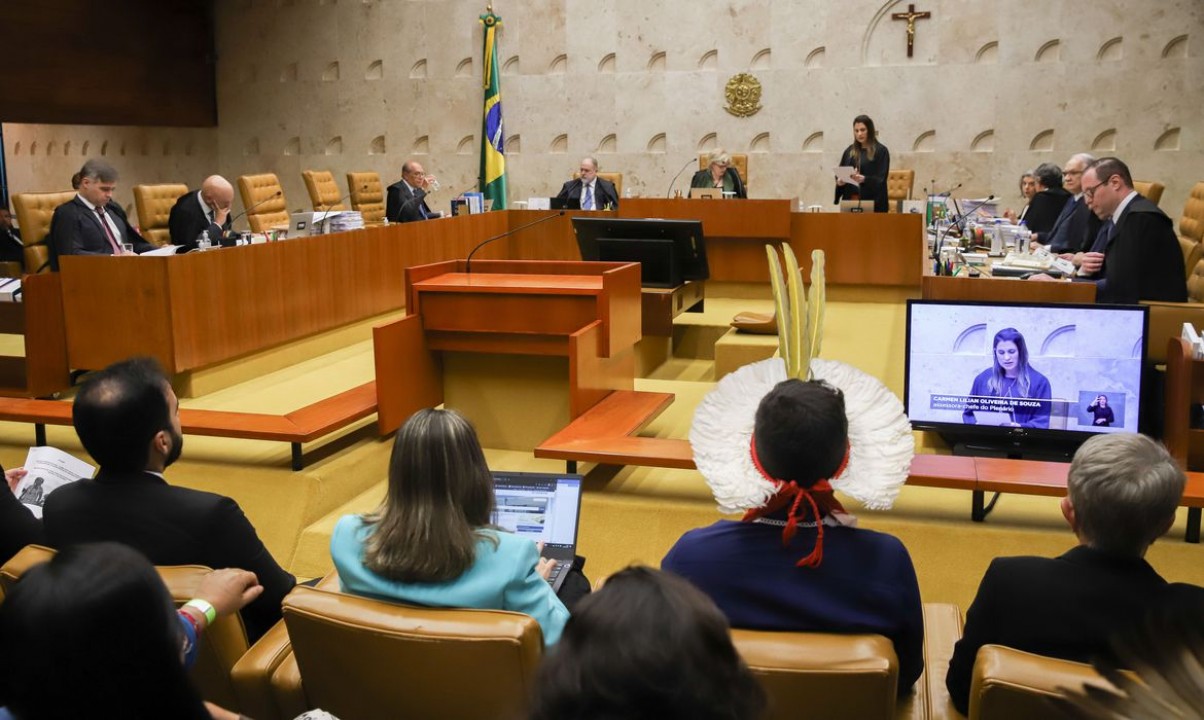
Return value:
[(1168, 584), (1144, 560), (1170, 529), (1186, 477), (1144, 435), (1097, 435), (1074, 454), (1062, 514), (1079, 547), (1058, 557), (997, 557), (966, 613), (945, 685), (962, 713), (979, 648), (1088, 661), (1159, 602)]

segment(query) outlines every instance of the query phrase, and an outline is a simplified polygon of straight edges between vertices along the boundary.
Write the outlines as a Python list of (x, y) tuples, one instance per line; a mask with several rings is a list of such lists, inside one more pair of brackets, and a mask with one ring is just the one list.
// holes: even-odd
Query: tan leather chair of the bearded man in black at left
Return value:
[[(7, 594), (29, 568), (47, 562), (53, 556), (54, 550), (49, 548), (26, 545), (0, 567), (0, 588)], [(176, 607), (196, 597), (201, 579), (211, 572), (209, 568), (199, 565), (160, 566), (155, 569), (167, 586)], [(230, 669), (246, 651), (247, 630), (238, 613), (218, 618), (205, 628), (196, 651), (196, 663), (189, 671), (189, 677), (200, 690), (201, 697), (226, 709), (238, 708)]]

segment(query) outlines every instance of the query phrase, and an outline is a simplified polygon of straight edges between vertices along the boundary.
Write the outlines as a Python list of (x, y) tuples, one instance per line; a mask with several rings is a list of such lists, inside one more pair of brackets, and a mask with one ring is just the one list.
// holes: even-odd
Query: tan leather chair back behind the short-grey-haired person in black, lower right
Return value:
[(982, 645), (974, 660), (969, 718), (1069, 718), (1045, 698), (1060, 695), (1058, 687), (1078, 689), (1084, 683), (1108, 686), (1090, 665), (1043, 657), (1003, 645)]

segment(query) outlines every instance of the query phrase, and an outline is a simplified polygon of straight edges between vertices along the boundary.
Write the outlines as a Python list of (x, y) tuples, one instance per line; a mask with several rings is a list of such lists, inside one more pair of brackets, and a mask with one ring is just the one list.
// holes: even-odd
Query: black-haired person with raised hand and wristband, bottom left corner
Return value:
[(0, 719), (237, 720), (201, 702), (184, 668), (205, 625), (261, 591), (249, 572), (214, 571), (176, 610), (137, 551), (66, 548), (30, 568), (0, 606)]

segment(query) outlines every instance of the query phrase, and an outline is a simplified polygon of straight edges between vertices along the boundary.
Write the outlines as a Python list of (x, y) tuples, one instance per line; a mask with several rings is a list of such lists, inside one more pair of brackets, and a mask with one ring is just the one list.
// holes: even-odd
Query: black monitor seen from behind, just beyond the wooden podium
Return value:
[(639, 262), (645, 288), (710, 277), (702, 220), (573, 218), (582, 260)]

